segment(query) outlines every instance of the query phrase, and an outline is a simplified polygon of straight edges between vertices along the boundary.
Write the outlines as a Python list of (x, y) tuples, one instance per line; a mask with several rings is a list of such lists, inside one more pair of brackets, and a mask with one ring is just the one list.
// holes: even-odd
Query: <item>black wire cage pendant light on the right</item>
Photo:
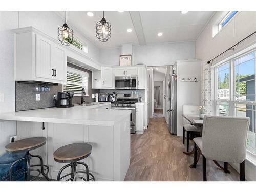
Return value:
[(103, 18), (97, 22), (96, 24), (96, 37), (101, 42), (106, 42), (110, 39), (111, 34), (111, 25), (109, 22), (106, 21), (104, 17), (104, 11), (103, 11)]

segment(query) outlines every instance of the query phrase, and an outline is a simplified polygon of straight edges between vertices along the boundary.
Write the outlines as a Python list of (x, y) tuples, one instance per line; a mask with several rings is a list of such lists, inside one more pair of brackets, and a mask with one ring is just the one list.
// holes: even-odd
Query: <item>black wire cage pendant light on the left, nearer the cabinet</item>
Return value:
[(59, 41), (62, 45), (69, 46), (73, 43), (73, 30), (66, 23), (67, 13), (65, 11), (65, 24), (59, 27)]

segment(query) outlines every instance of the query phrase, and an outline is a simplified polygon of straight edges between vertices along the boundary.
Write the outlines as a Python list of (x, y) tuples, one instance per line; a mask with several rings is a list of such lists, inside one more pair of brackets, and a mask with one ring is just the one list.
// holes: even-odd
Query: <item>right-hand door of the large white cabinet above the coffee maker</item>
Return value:
[(67, 55), (66, 50), (57, 44), (52, 44), (52, 65), (54, 79), (67, 80)]

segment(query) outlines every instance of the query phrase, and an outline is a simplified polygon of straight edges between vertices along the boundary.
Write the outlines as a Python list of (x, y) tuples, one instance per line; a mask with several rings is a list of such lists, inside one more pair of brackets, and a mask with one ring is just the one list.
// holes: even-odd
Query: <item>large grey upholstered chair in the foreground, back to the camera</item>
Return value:
[(205, 116), (202, 137), (194, 138), (194, 167), (197, 165), (197, 147), (203, 155), (203, 181), (206, 177), (206, 159), (228, 163), (240, 163), (240, 181), (245, 181), (246, 140), (249, 117)]

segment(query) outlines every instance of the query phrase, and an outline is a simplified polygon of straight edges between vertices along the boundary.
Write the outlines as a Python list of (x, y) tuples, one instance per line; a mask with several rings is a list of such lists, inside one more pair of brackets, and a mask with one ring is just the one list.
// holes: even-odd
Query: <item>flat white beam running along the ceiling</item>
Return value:
[(140, 18), (140, 12), (139, 11), (129, 11), (130, 17), (133, 22), (133, 27), (135, 29), (138, 41), (140, 45), (146, 45), (146, 39), (141, 23), (141, 18)]

